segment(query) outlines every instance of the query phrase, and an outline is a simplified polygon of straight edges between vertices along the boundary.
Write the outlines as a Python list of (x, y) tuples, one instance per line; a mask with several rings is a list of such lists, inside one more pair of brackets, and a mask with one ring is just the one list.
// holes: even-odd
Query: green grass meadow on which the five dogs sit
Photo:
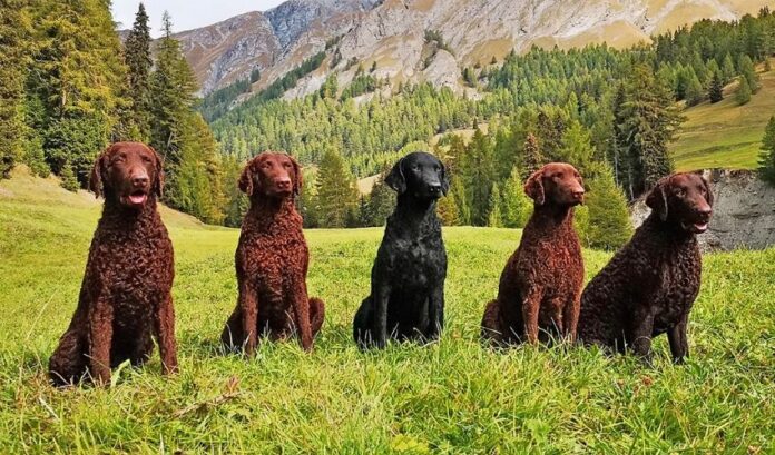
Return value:
[[(75, 308), (99, 205), (23, 174), (0, 182), (0, 453), (773, 453), (775, 249), (705, 258), (693, 356), (655, 366), (561, 345), (493, 352), (483, 305), (519, 231), (444, 229), (447, 330), (360, 353), (351, 317), (381, 229), (306, 233), (327, 319), (312, 354), (224, 355), (237, 231), (166, 210), (180, 373), (159, 360), (110, 388), (56, 390), (46, 364)], [(609, 258), (585, 251), (588, 276)], [(758, 451), (758, 452), (757, 452)]]

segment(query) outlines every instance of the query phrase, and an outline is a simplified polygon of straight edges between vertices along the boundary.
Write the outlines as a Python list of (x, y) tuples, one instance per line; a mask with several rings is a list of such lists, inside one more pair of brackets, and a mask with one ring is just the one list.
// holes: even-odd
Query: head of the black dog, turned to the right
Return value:
[(424, 151), (401, 158), (387, 174), (385, 184), (399, 196), (408, 194), (420, 200), (439, 199), (450, 189), (444, 164)]

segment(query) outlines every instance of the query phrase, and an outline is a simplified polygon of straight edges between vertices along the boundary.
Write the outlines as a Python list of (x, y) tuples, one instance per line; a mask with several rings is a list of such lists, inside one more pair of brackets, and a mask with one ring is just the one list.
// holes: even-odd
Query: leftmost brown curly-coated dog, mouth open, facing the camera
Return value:
[(163, 373), (177, 369), (173, 244), (156, 210), (164, 171), (154, 149), (118, 142), (97, 159), (89, 188), (105, 195), (78, 307), (49, 360), (55, 385), (72, 384), (86, 373), (98, 384), (126, 359), (139, 365), (154, 349)]

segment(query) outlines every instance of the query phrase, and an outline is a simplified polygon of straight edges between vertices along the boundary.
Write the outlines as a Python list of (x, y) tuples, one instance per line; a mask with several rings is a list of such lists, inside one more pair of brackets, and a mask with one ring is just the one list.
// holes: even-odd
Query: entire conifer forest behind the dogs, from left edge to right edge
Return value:
[[(239, 224), (247, 204), (234, 185), (239, 168), (265, 149), (287, 150), (310, 168), (301, 201), (307, 226), (381, 225), (392, 191), (377, 178), (371, 195), (361, 196), (355, 178), (384, 172), (441, 136), (432, 151), (452, 176), (439, 207), (445, 224), (521, 226), (531, 209), (521, 181), (540, 165), (563, 160), (599, 188), (579, 210), (580, 229), (608, 229), (590, 234), (589, 244), (611, 246), (621, 235), (610, 233), (628, 229), (626, 201), (673, 170), (667, 145), (681, 103), (716, 102), (732, 81), (738, 102), (747, 102), (759, 86), (756, 65), (775, 49), (775, 14), (765, 8), (757, 17), (700, 21), (627, 50), (534, 48), (501, 63), (493, 58), (467, 72), (482, 92), (479, 100), (429, 83), (399, 85), (385, 97), (377, 90), (384, 82), (372, 76), (375, 66), (366, 72), (359, 62), (352, 62), (359, 71), (347, 88), (340, 89), (334, 75), (315, 93), (279, 99), (336, 58), (339, 40), (332, 40), (235, 106), (261, 73), (197, 100), (168, 16), (153, 43), (140, 6), (122, 46), (104, 0), (1, 1), (7, 46), (0, 52), (9, 63), (0, 68), (2, 174), (26, 162), (75, 189), (109, 141), (144, 140), (165, 157), (165, 202), (229, 226)], [(439, 32), (429, 37), (443, 42)], [(372, 96), (356, 99), (364, 93)], [(478, 122), (487, 122), (487, 135)], [(448, 133), (472, 127), (468, 141)], [(621, 222), (606, 225), (609, 218)]]

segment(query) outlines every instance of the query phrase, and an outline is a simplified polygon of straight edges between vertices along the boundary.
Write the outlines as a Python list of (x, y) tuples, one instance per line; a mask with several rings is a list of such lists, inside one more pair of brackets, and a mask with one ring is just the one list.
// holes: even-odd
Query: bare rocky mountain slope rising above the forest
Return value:
[[(532, 46), (625, 48), (700, 19), (734, 20), (767, 0), (290, 0), (176, 34), (202, 93), (245, 79), (261, 89), (336, 41), (335, 59), (287, 96), (317, 90), (337, 73), (346, 87), (357, 66), (392, 83), (428, 80), (465, 90), (463, 68), (487, 65)], [(429, 41), (426, 31), (440, 39)], [(443, 44), (443, 46), (442, 46)]]

